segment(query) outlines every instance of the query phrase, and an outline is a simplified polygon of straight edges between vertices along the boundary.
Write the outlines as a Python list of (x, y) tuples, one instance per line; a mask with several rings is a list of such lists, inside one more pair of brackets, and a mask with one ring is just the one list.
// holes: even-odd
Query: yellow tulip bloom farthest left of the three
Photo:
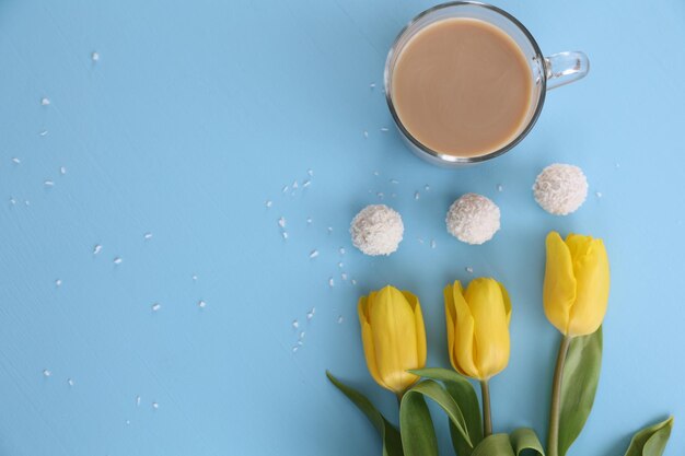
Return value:
[(359, 299), (359, 323), (367, 365), (383, 388), (402, 395), (426, 366), (426, 329), (419, 300), (387, 285)]

